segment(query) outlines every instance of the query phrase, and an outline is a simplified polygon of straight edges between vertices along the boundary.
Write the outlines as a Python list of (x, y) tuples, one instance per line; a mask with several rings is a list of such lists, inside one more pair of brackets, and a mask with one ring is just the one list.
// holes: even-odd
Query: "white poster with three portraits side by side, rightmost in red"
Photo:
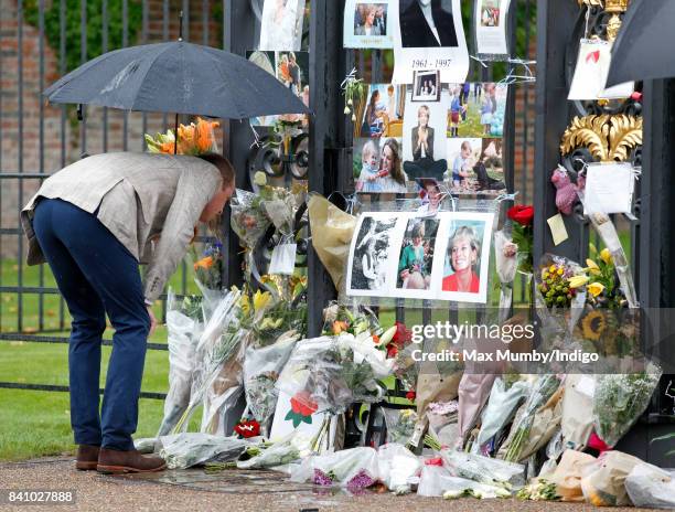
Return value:
[(358, 217), (349, 296), (485, 303), (494, 214), (405, 212)]

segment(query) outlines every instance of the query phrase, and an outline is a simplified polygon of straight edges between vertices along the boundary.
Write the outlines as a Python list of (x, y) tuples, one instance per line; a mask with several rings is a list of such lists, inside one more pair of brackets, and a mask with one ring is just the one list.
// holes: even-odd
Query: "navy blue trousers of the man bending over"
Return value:
[[(75, 442), (131, 450), (150, 330), (138, 262), (95, 215), (58, 199), (40, 201), (33, 230), (73, 317), (68, 370)], [(106, 313), (115, 334), (99, 415)]]

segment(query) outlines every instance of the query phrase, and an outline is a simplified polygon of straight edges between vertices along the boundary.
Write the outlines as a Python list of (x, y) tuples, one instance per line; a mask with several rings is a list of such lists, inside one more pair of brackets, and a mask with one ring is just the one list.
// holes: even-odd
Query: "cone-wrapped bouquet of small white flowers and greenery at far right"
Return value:
[(662, 371), (649, 364), (642, 373), (607, 374), (597, 377), (593, 424), (598, 436), (614, 447), (647, 408)]

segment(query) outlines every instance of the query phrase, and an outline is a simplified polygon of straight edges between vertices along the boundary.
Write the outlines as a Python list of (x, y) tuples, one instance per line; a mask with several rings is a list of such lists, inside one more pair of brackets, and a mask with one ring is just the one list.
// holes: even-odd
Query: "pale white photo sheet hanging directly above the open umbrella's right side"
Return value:
[(258, 50), (298, 52), (306, 0), (265, 0)]

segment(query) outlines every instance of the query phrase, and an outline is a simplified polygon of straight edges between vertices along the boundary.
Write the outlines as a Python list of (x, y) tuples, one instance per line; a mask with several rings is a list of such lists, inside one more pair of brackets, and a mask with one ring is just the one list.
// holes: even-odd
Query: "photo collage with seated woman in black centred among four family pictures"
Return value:
[(430, 179), (452, 193), (502, 193), (506, 95), (497, 83), (442, 84), (438, 71), (369, 85), (355, 107), (356, 192), (405, 193)]

